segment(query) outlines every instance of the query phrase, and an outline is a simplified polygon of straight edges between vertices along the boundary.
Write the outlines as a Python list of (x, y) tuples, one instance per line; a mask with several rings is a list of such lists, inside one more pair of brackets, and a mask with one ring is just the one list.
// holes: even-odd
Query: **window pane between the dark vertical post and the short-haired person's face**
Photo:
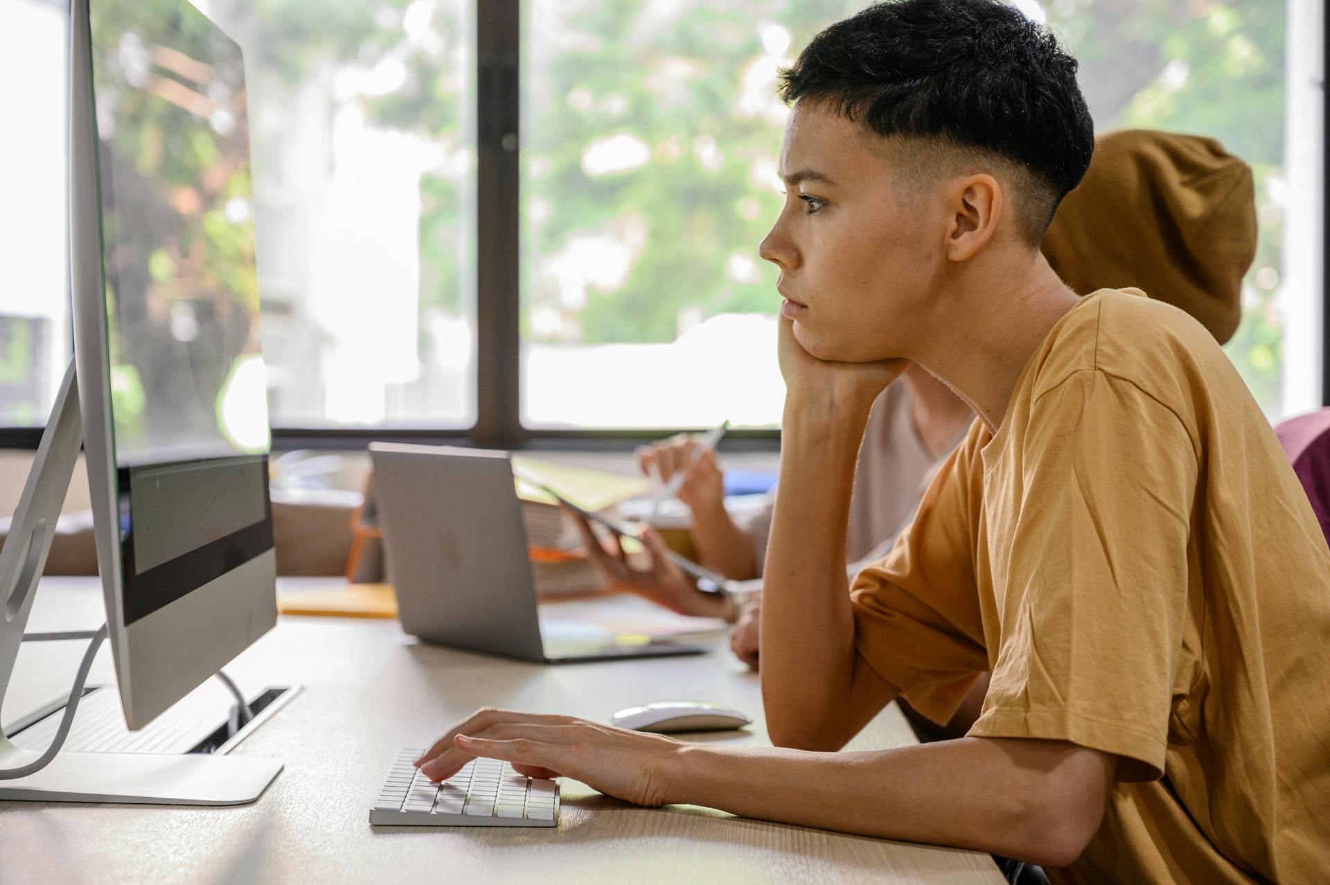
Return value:
[(777, 70), (857, 5), (524, 4), (525, 425), (779, 424)]

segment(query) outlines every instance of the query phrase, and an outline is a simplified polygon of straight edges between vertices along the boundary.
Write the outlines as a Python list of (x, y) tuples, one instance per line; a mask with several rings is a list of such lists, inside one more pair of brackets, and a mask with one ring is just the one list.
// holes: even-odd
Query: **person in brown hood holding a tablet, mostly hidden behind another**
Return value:
[[(1224, 344), (1241, 319), (1242, 279), (1256, 245), (1256, 195), (1245, 162), (1212, 138), (1123, 129), (1095, 138), (1089, 169), (1059, 205), (1040, 251), (1073, 291), (1137, 286), (1190, 314)], [(878, 396), (859, 444), (850, 497), (851, 575), (891, 550), (974, 417), (950, 387), (919, 365)], [(702, 565), (738, 581), (761, 575), (774, 494), (739, 524), (725, 510), (724, 474), (714, 453), (700, 452), (694, 437), (661, 440), (638, 449), (637, 458), (642, 473), (662, 481), (682, 470), (678, 498), (692, 513)], [(757, 668), (761, 594), (737, 611), (729, 599), (700, 591), (669, 562), (640, 570), (597, 545), (588, 549), (613, 586), (681, 614), (737, 618), (730, 647)], [(982, 702), (984, 687), (976, 686), (972, 698)], [(954, 719), (948, 728), (963, 735), (978, 714), (974, 707), (974, 715)]]

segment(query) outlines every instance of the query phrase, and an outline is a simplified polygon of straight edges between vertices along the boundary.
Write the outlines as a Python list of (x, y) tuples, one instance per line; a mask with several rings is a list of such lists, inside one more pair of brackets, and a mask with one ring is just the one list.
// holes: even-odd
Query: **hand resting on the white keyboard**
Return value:
[(573, 777), (606, 796), (664, 805), (672, 801), (668, 775), (686, 747), (571, 716), (485, 708), (439, 739), (416, 767), (443, 780), (476, 756), (501, 759), (529, 777)]

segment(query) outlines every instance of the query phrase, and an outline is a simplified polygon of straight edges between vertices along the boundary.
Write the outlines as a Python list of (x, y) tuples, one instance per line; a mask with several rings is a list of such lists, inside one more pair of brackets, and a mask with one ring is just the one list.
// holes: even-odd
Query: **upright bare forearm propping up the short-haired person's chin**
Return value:
[(835, 748), (862, 726), (845, 549), (868, 405), (786, 401), (761, 621), (762, 695), (781, 745)]

